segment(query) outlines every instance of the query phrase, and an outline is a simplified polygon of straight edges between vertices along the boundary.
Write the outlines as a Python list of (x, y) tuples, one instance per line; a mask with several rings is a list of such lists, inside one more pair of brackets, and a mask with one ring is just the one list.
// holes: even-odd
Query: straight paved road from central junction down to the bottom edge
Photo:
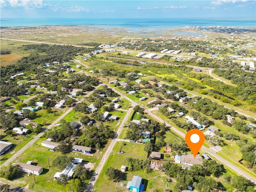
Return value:
[(127, 114), (124, 116), (124, 119), (122, 120), (122, 123), (120, 124), (116, 135), (114, 136), (114, 138), (112, 139), (110, 145), (108, 146), (108, 149), (106, 150), (105, 154), (103, 155), (99, 165), (97, 166), (97, 168), (95, 169), (95, 172), (90, 180), (90, 182), (88, 183), (88, 185), (86, 186), (86, 189), (84, 190), (84, 192), (91, 192), (93, 190), (93, 186), (104, 166), (104, 164), (106, 163), (106, 160), (108, 159), (108, 157), (110, 156), (114, 145), (116, 144), (116, 142), (118, 141), (118, 135), (122, 132), (123, 128), (124, 128), (124, 124), (126, 123), (126, 121), (128, 120), (128, 117), (130, 116), (131, 112), (132, 112), (132, 108), (133, 108), (133, 104), (132, 106), (128, 109)]

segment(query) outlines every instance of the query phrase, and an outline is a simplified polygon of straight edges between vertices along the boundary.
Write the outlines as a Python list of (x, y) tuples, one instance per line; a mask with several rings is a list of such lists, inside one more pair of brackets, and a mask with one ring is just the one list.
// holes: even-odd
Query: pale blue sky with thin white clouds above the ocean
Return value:
[(255, 0), (0, 0), (1, 18), (256, 18)]

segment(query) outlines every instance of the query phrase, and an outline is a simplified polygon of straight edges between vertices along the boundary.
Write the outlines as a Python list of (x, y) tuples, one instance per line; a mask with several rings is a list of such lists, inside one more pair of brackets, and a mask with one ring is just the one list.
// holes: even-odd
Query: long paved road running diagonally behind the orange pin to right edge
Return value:
[[(120, 93), (118, 90), (115, 90), (112, 88), (112, 90), (118, 94), (120, 94), (122, 97), (126, 98), (128, 101), (130, 101), (132, 103), (132, 105), (139, 105), (136, 102), (134, 102), (133, 100), (131, 100), (130, 98), (128, 98), (126, 95)], [(140, 106), (143, 108), (143, 106)], [(170, 129), (173, 132), (176, 132), (177, 134), (179, 134), (180, 136), (182, 136), (183, 138), (185, 138), (185, 134), (183, 132), (181, 132), (180, 130), (176, 129), (175, 127), (173, 127), (172, 125), (168, 124), (167, 122), (165, 122), (164, 120), (162, 120), (161, 118), (159, 118), (159, 116), (153, 114), (150, 110), (145, 109), (145, 111), (148, 113), (148, 115), (152, 116), (154, 119), (158, 120), (159, 122), (165, 123), (166, 126), (170, 127)], [(256, 178), (253, 178), (252, 176), (248, 175), (246, 172), (240, 170), (240, 168), (234, 166), (233, 164), (231, 164), (230, 162), (228, 162), (227, 160), (225, 160), (224, 158), (218, 156), (216, 153), (212, 152), (210, 149), (202, 146), (202, 150), (204, 150), (205, 152), (207, 152), (210, 156), (214, 157), (216, 160), (218, 160), (219, 162), (221, 162), (222, 164), (224, 164), (225, 166), (231, 168), (232, 170), (234, 170), (235, 172), (237, 172), (238, 174), (246, 177), (248, 180), (251, 180), (252, 182), (254, 182), (256, 184)]]

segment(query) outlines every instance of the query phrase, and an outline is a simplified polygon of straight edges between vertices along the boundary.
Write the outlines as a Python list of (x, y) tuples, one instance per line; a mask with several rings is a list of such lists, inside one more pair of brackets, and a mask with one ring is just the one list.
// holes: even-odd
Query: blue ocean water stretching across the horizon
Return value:
[(255, 18), (1, 18), (0, 26), (90, 25), (100, 28), (168, 29), (185, 26), (256, 27)]

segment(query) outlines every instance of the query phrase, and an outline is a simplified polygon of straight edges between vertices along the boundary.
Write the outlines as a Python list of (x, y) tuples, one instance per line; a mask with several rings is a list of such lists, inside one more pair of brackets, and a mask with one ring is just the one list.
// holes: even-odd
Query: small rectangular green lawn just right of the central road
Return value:
[(124, 142), (121, 151), (127, 154), (133, 154), (142, 157), (147, 156), (147, 153), (144, 151), (144, 144), (141, 143)]

